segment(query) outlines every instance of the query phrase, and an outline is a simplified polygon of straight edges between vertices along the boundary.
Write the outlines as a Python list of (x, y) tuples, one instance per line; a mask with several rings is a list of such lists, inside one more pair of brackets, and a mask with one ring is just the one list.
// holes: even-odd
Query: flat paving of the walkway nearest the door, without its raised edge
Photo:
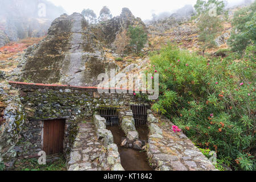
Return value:
[(104, 153), (103, 143), (96, 137), (94, 124), (80, 123), (68, 161), (68, 171), (101, 171), (98, 158)]

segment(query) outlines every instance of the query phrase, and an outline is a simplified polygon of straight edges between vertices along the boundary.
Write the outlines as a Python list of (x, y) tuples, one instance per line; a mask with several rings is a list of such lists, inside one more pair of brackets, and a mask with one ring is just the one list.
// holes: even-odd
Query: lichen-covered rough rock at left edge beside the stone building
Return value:
[(16, 142), (20, 138), (20, 131), (26, 125), (26, 116), (23, 105), (8, 85), (0, 85), (0, 101), (5, 104), (3, 123), (0, 123), (0, 163), (5, 163), (6, 168), (13, 166), (18, 148)]

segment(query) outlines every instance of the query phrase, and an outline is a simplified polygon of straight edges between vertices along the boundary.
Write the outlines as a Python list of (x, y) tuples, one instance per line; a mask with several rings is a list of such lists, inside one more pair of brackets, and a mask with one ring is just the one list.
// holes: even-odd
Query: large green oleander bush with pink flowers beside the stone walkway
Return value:
[(207, 59), (175, 46), (151, 55), (160, 92), (152, 109), (233, 169), (255, 169), (255, 56)]

